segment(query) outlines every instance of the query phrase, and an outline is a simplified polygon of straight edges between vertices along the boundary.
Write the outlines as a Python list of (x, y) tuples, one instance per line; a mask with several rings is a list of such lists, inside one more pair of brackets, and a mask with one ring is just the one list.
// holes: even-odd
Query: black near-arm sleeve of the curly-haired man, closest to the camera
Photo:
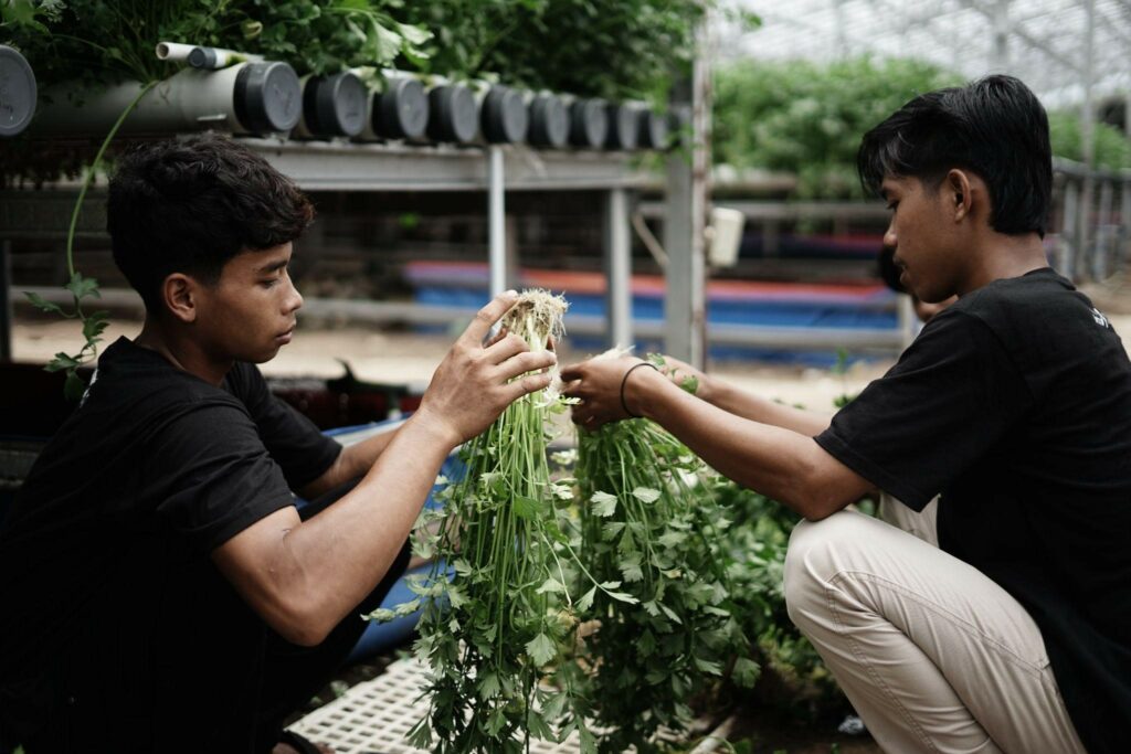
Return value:
[(157, 519), (196, 552), (210, 552), (294, 504), (283, 471), (239, 406), (206, 401), (172, 417), (152, 440), (144, 478), (159, 487)]

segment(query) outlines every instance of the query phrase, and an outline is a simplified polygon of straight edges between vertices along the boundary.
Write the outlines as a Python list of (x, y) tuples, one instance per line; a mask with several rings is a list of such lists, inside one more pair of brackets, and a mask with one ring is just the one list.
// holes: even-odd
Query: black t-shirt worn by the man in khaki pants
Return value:
[(1046, 268), (962, 296), (817, 442), (915, 510), (941, 493), (942, 549), (1036, 621), (1088, 749), (1126, 749), (1131, 364), (1083, 294)]

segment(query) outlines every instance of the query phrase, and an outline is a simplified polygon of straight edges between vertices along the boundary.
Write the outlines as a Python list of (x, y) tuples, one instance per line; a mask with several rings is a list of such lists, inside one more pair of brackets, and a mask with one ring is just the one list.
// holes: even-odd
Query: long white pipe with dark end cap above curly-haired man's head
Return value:
[[(102, 92), (77, 84), (52, 87), (52, 102), (41, 109), (32, 130), (36, 136), (105, 136), (140, 90), (137, 81)], [(301, 105), (299, 77), (287, 63), (238, 63), (218, 71), (187, 68), (146, 93), (119, 133), (278, 133), (295, 127)]]

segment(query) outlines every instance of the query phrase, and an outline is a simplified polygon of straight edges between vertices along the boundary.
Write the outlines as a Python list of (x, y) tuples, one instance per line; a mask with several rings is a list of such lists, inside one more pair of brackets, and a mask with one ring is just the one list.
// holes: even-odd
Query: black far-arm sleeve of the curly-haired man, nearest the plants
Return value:
[(236, 364), (228, 382), (248, 407), (267, 452), (282, 467), (292, 489), (313, 482), (337, 460), (342, 444), (323, 435), (313, 422), (273, 396), (258, 369), (251, 364)]

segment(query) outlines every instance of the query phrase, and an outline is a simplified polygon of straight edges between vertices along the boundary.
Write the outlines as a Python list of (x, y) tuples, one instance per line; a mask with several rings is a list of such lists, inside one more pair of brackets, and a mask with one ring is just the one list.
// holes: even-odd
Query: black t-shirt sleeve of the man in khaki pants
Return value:
[(920, 511), (991, 452), (1030, 402), (994, 332), (977, 317), (948, 310), (815, 440)]

